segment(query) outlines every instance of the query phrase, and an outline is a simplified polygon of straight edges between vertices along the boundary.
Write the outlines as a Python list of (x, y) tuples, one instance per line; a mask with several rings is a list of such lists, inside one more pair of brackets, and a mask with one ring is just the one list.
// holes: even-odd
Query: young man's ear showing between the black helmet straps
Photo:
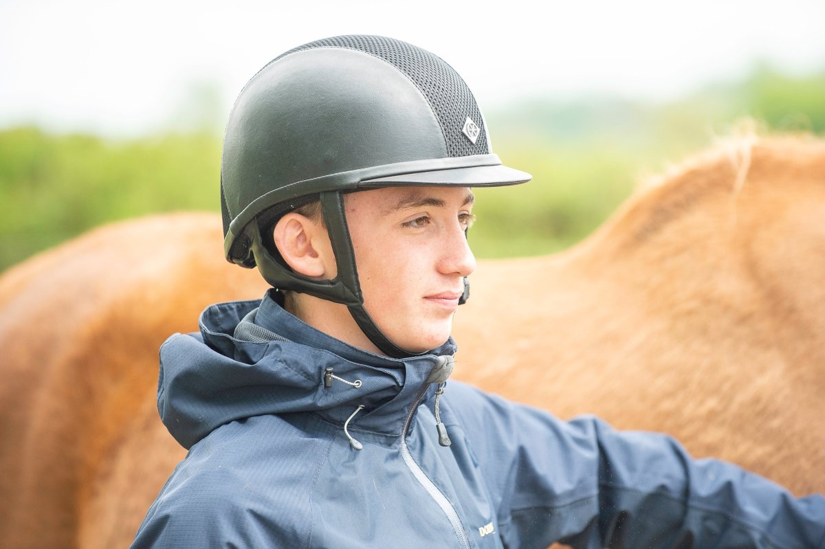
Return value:
[(295, 273), (314, 279), (335, 278), (335, 256), (323, 223), (290, 212), (278, 220), (272, 236), (286, 265)]

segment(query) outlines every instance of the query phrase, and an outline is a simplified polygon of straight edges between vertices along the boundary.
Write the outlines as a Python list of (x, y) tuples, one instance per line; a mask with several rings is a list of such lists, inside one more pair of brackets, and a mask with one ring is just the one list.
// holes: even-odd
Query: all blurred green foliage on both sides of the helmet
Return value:
[[(742, 117), (771, 130), (825, 133), (823, 97), (825, 73), (792, 77), (761, 66), (742, 82), (666, 104), (579, 97), (488, 112), (495, 152), (534, 180), (476, 191), (474, 251), (526, 256), (570, 246), (643, 174), (705, 148)], [(0, 131), (0, 270), (101, 223), (219, 211), (220, 147), (206, 130), (127, 141)]]

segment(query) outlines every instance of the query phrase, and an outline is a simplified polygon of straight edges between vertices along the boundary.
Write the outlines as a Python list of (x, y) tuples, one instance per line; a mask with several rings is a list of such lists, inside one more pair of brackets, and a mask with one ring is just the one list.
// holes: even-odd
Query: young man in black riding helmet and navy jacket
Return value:
[(238, 96), (221, 176), (226, 256), (273, 289), (163, 345), (158, 406), (190, 452), (133, 547), (823, 547), (819, 496), (445, 392), (470, 188), (530, 176), (435, 55), (379, 36), (281, 55)]

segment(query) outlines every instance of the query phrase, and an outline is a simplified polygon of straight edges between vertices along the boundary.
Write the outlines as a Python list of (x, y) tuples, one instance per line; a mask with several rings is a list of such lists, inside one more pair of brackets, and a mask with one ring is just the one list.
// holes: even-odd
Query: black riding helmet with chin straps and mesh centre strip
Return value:
[[(384, 36), (317, 40), (272, 60), (235, 101), (221, 163), (224, 253), (277, 289), (347, 305), (380, 350), (410, 356), (364, 308), (342, 194), (526, 181), (492, 153), (472, 92), (441, 58)], [(271, 242), (272, 224), (314, 199), (337, 260), (331, 280), (295, 274)]]

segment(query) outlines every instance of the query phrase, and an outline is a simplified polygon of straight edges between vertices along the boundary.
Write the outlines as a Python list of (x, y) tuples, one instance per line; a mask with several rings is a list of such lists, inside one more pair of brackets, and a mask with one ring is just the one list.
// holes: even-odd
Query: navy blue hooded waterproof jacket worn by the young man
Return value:
[(132, 547), (825, 547), (821, 496), (595, 417), (451, 381), (442, 446), (454, 352), (357, 350), (270, 294), (207, 308), (161, 349), (158, 408), (189, 453)]

